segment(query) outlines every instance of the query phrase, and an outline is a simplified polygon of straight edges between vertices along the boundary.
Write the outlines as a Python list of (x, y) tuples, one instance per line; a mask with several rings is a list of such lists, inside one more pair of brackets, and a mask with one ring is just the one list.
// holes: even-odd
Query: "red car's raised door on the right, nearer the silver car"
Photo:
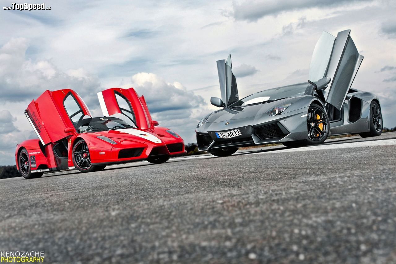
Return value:
[(98, 93), (98, 99), (105, 117), (121, 113), (140, 129), (153, 126), (144, 97), (139, 97), (133, 88), (103, 90)]

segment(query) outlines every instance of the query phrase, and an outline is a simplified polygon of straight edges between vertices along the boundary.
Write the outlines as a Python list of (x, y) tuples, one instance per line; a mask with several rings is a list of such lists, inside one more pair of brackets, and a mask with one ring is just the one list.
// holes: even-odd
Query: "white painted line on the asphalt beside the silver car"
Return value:
[(396, 145), (396, 139), (359, 141), (359, 142), (338, 143), (338, 144), (329, 144), (329, 145), (315, 145), (315, 146), (308, 146), (308, 147), (297, 147), (294, 149), (275, 149), (273, 151), (249, 153), (248, 155), (265, 154), (268, 152), (282, 153), (282, 152), (328, 150), (328, 149), (349, 149), (349, 148), (353, 148), (353, 147), (374, 147), (374, 146), (388, 146), (388, 145)]

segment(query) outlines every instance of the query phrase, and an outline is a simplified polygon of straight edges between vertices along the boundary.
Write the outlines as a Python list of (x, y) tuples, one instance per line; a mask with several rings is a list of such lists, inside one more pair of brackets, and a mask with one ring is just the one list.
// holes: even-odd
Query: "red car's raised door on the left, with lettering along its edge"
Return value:
[(46, 90), (29, 104), (25, 115), (41, 143), (47, 145), (66, 138), (65, 128), (76, 128), (78, 121), (91, 113), (76, 92), (63, 89)]

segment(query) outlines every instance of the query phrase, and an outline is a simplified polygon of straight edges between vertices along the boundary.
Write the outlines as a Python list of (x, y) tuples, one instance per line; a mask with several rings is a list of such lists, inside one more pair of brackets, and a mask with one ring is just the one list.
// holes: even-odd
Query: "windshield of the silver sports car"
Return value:
[(308, 83), (293, 84), (289, 86), (283, 86), (264, 90), (250, 96), (247, 96), (239, 101), (236, 101), (230, 107), (240, 107), (247, 105), (256, 105), (265, 102), (276, 101), (284, 98), (290, 98), (295, 96), (302, 96), (307, 90)]

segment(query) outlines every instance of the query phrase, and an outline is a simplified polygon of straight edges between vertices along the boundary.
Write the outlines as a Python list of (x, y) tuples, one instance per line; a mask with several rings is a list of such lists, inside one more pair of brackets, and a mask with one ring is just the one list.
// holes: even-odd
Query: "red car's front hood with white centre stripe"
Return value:
[(145, 132), (135, 128), (124, 128), (117, 130), (108, 130), (95, 132), (98, 136), (106, 136), (108, 138), (118, 138), (122, 140), (133, 140), (136, 142), (152, 142), (152, 143), (162, 143), (159, 136), (154, 133)]

